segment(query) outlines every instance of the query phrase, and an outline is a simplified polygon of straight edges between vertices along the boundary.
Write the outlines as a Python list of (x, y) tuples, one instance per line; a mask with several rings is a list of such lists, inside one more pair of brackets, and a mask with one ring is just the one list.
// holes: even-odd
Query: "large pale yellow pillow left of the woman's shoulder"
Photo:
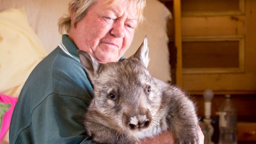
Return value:
[(18, 97), (27, 77), (46, 55), (24, 9), (0, 12), (0, 93)]

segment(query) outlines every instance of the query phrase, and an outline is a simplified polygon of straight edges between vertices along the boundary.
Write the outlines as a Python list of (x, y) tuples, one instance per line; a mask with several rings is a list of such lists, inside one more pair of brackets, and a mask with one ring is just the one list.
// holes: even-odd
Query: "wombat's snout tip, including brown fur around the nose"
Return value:
[(126, 114), (126, 125), (132, 130), (146, 128), (150, 124), (150, 117), (148, 110), (138, 114)]

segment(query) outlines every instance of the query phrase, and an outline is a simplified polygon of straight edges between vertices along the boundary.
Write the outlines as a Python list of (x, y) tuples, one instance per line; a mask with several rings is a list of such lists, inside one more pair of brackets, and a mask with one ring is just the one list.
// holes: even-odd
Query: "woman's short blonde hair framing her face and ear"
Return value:
[[(110, 0), (105, 0), (105, 2), (108, 2)], [(119, 3), (121, 0), (114, 0), (112, 5)], [(137, 14), (139, 16), (138, 23), (143, 21), (143, 9), (146, 5), (146, 0), (125, 0), (129, 1), (131, 3), (132, 1), (136, 3), (137, 8)], [(77, 23), (79, 20), (81, 20), (88, 11), (89, 7), (96, 3), (97, 0), (72, 0), (69, 3), (68, 11), (69, 13), (67, 15), (63, 15), (61, 18), (59, 18), (58, 26), (59, 26), (59, 33), (63, 34), (64, 31), (69, 33), (69, 29), (71, 26), (71, 11), (73, 8), (73, 19), (74, 23)]]

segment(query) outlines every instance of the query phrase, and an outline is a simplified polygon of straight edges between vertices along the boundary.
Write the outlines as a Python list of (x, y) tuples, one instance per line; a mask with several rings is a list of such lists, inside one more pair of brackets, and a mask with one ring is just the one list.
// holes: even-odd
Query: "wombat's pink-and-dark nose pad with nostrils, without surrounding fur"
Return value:
[(146, 127), (149, 124), (147, 115), (130, 117), (129, 126), (131, 129)]

